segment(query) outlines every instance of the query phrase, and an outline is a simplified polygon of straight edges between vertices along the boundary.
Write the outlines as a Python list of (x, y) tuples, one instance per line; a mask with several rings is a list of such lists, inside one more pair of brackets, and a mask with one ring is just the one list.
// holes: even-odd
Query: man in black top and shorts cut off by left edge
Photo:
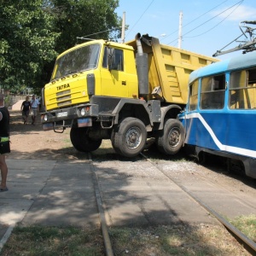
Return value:
[(8, 167), (5, 162), (5, 154), (10, 152), (9, 149), (9, 111), (4, 107), (4, 97), (0, 93), (0, 169), (1, 183), (0, 192), (7, 191), (7, 173)]

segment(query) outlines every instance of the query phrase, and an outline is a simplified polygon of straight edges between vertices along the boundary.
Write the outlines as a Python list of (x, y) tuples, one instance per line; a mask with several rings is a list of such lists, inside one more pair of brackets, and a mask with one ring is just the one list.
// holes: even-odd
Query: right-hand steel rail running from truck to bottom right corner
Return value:
[(174, 180), (172, 177), (169, 177), (168, 174), (164, 170), (160, 168), (160, 166), (157, 166), (152, 160), (149, 160), (148, 157), (141, 153), (143, 158), (147, 160), (149, 163), (151, 163), (153, 166), (155, 166), (160, 172), (162, 172), (167, 178), (171, 179), (173, 183), (175, 183), (180, 189), (182, 189), (187, 195), (189, 195), (194, 201), (196, 201), (201, 207), (205, 208), (207, 212), (210, 212), (215, 218), (218, 219), (218, 221), (224, 225), (224, 227), (230, 231), (231, 234), (234, 234), (236, 238), (236, 241), (238, 241), (237, 238), (239, 238), (239, 242), (246, 246), (245, 249), (249, 253), (252, 253), (252, 255), (256, 255), (256, 243), (249, 239), (246, 235), (244, 235), (240, 230), (237, 230), (236, 227), (230, 222), (228, 222), (225, 218), (223, 218), (221, 215), (218, 214), (218, 212), (215, 212), (211, 207), (207, 206), (206, 203), (201, 201), (197, 196), (193, 195), (191, 192), (189, 192), (188, 189), (186, 189), (181, 183), (178, 183), (176, 180)]

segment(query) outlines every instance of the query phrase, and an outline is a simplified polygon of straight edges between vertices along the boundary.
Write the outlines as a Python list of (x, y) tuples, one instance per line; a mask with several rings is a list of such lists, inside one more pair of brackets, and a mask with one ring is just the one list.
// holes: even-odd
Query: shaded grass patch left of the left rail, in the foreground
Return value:
[(103, 255), (100, 230), (17, 226), (0, 255)]

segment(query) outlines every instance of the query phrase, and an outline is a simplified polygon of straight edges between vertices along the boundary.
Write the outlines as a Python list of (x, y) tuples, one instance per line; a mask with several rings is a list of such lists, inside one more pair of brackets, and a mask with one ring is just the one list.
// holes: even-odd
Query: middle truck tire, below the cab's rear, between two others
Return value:
[(146, 127), (140, 119), (126, 118), (119, 125), (118, 131), (113, 131), (111, 142), (116, 153), (126, 157), (140, 154), (147, 140)]

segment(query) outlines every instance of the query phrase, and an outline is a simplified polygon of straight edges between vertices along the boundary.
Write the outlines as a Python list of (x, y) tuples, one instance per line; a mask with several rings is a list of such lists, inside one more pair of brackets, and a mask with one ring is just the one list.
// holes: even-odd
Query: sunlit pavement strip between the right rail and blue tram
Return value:
[(166, 164), (161, 164), (161, 168), (174, 181), (182, 183), (196, 198), (224, 217), (236, 218), (256, 212), (256, 200), (253, 195), (245, 194), (236, 188), (230, 191), (220, 181), (197, 174), (196, 165), (190, 164), (190, 171), (193, 172), (177, 172), (175, 166)]

